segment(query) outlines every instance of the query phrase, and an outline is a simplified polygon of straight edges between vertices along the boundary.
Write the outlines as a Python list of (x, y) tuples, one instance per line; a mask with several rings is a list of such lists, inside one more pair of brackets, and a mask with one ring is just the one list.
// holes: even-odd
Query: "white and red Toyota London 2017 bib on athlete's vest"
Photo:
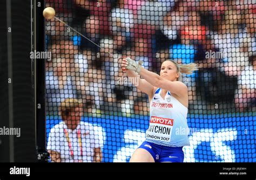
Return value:
[(151, 116), (146, 138), (158, 141), (171, 141), (173, 119)]

